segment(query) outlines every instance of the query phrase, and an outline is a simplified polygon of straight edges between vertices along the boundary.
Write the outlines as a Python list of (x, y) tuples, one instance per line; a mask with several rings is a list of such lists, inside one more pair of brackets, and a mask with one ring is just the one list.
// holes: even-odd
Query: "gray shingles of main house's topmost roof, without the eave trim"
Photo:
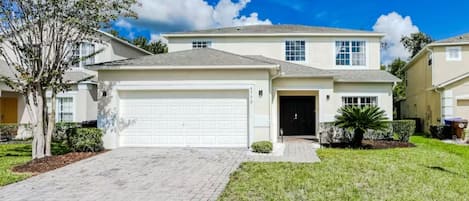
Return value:
[(333, 27), (316, 27), (305, 25), (249, 25), (237, 27), (225, 27), (216, 29), (196, 30), (187, 32), (174, 32), (171, 34), (260, 34), (260, 33), (371, 33), (372, 31), (340, 29)]

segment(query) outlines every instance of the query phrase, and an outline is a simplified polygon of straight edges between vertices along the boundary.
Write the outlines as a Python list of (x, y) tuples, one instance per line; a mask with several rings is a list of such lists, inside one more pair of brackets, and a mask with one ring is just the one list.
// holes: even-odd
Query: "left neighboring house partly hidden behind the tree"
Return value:
[[(60, 122), (81, 122), (96, 120), (97, 115), (97, 73), (84, 68), (85, 65), (97, 62), (137, 58), (151, 53), (140, 49), (130, 43), (116, 38), (108, 33), (99, 32), (102, 42), (83, 42), (76, 45), (72, 56), (82, 57), (102, 50), (74, 66), (64, 75), (64, 80), (73, 84), (69, 91), (57, 95), (56, 118)], [(0, 74), (13, 77), (13, 72), (4, 61), (0, 60)], [(81, 80), (88, 79), (84, 82)], [(30, 123), (30, 115), (21, 94), (13, 92), (11, 88), (0, 83), (0, 123)], [(21, 137), (23, 132), (19, 131)]]

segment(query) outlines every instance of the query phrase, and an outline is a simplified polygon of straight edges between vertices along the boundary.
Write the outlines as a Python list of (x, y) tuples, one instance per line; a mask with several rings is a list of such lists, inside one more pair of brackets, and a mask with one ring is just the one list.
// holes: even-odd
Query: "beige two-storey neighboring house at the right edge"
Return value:
[(404, 118), (420, 118), (426, 132), (446, 118), (469, 119), (469, 34), (427, 45), (404, 70)]

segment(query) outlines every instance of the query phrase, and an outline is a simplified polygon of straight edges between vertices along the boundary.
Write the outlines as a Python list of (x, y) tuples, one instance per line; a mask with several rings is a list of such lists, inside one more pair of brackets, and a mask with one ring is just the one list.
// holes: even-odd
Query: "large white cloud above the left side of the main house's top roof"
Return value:
[(139, 4), (133, 7), (138, 19), (119, 20), (115, 25), (128, 27), (128, 24), (131, 24), (133, 29), (161, 33), (272, 24), (269, 19), (259, 19), (255, 12), (248, 16), (240, 14), (250, 1), (219, 0), (212, 6), (206, 0), (140, 0)]

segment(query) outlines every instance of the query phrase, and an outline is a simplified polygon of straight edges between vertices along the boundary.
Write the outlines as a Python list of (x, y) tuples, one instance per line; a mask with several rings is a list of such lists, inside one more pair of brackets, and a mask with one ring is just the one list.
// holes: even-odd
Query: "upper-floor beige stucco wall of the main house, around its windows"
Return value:
[[(263, 55), (285, 60), (286, 40), (305, 40), (306, 61), (299, 62), (318, 68), (352, 67), (335, 65), (335, 41), (365, 40), (367, 66), (365, 68), (380, 69), (380, 38), (379, 37), (214, 37), (214, 38), (170, 38), (169, 52), (192, 49), (193, 40), (209, 40), (212, 48), (241, 55)], [(255, 48), (254, 48), (255, 47)]]

